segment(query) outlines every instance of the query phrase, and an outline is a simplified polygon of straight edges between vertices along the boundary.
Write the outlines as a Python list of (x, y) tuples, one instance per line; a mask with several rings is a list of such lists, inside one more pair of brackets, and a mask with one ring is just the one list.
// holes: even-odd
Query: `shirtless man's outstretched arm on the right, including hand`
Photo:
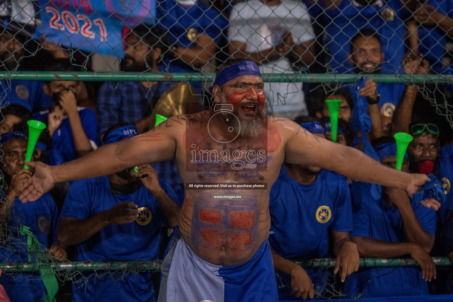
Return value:
[(357, 181), (375, 183), (405, 190), (412, 195), (429, 178), (422, 174), (408, 174), (388, 168), (365, 153), (320, 139), (290, 120), (275, 119), (288, 131), (285, 162), (321, 167)]

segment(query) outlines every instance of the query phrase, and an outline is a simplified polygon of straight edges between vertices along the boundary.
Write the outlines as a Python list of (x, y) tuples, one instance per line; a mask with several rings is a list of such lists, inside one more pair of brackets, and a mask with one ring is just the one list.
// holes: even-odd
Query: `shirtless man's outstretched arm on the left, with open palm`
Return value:
[(50, 190), (56, 182), (109, 175), (145, 163), (169, 160), (176, 151), (177, 135), (183, 123), (175, 116), (145, 134), (118, 143), (107, 144), (86, 156), (57, 166), (27, 163), (35, 169), (20, 188), (22, 202), (34, 201)]

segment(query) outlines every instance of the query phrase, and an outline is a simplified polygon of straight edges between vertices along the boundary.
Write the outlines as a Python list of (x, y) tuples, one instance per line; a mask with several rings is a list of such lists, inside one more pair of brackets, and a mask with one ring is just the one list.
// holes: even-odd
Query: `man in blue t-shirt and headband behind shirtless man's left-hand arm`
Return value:
[[(107, 129), (103, 144), (136, 134), (134, 125), (118, 123)], [(132, 169), (75, 181), (69, 188), (57, 240), (76, 245), (77, 261), (159, 258), (160, 227), (178, 224), (178, 197), (149, 164), (139, 166), (138, 173)], [(154, 301), (152, 273), (122, 277), (113, 282), (117, 276), (108, 275), (87, 288), (74, 283), (72, 301)]]

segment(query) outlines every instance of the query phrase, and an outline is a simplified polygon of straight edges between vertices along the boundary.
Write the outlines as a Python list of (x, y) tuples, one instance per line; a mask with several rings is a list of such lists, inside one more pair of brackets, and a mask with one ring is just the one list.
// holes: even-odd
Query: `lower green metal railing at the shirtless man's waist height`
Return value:
[[(328, 268), (335, 266), (335, 259), (292, 259), (295, 264), (303, 268)], [(448, 257), (433, 257), (433, 261), (438, 266), (453, 266)], [(143, 261), (85, 261), (85, 262), (52, 262), (46, 265), (55, 271), (108, 271), (108, 270), (126, 270), (126, 271), (160, 271), (162, 260), (143, 260)], [(418, 266), (419, 264), (412, 258), (397, 259), (376, 259), (361, 258), (360, 267), (409, 267)], [(37, 273), (40, 265), (35, 262), (3, 262), (0, 263), (0, 269), (3, 273)]]

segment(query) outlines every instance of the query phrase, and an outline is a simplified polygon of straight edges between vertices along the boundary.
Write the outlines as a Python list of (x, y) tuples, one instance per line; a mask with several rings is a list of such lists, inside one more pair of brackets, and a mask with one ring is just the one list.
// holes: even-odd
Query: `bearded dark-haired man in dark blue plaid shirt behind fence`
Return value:
[[(157, 27), (135, 26), (125, 36), (124, 72), (158, 72), (158, 62), (165, 52), (164, 36)], [(113, 124), (135, 123), (140, 133), (148, 130), (149, 115), (162, 93), (158, 82), (106, 81), (99, 89), (96, 113), (99, 118), (98, 137)]]

